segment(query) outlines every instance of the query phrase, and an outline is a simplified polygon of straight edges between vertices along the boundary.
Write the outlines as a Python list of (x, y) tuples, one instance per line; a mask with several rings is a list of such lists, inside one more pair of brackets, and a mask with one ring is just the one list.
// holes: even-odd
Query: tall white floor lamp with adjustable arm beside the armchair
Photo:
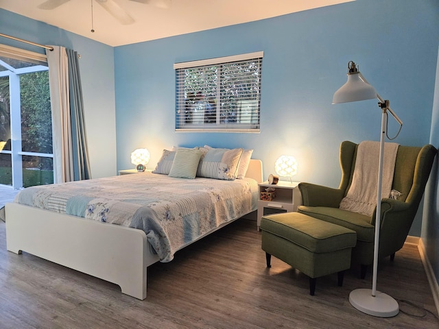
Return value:
[(392, 117), (398, 121), (400, 130), (403, 122), (392, 111), (388, 100), (383, 100), (358, 71), (354, 62), (348, 62), (348, 81), (333, 97), (333, 104), (346, 103), (350, 101), (364, 101), (366, 99), (378, 99), (379, 107), (382, 110), (381, 115), (381, 138), (379, 147), (379, 167), (377, 182), (377, 215), (375, 221), (375, 244), (373, 255), (373, 278), (372, 289), (356, 289), (349, 294), (349, 302), (361, 310), (361, 312), (374, 315), (375, 317), (394, 317), (399, 313), (399, 305), (394, 298), (385, 293), (377, 291), (377, 271), (378, 271), (378, 250), (379, 250), (379, 228), (381, 225), (381, 181), (383, 177), (383, 153), (384, 140), (387, 136), (387, 113), (390, 112)]

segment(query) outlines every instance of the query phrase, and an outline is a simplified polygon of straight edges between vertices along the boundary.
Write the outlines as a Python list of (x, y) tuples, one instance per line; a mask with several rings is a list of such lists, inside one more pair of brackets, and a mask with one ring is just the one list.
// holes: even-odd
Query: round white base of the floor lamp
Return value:
[(372, 289), (356, 289), (349, 294), (349, 302), (363, 313), (374, 317), (394, 317), (399, 313), (399, 305), (393, 297), (376, 292), (372, 296)]

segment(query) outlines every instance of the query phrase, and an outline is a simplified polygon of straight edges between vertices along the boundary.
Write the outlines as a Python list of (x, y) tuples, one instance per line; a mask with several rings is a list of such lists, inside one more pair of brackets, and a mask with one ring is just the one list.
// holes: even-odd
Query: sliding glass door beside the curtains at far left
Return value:
[[(1, 51), (0, 184), (14, 188), (54, 182), (47, 63), (27, 51)], [(23, 56), (25, 54), (25, 56)]]

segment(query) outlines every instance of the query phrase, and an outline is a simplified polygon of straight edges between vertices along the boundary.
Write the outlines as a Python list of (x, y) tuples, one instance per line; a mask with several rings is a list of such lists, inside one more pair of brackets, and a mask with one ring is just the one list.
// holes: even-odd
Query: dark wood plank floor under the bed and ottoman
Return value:
[[(317, 281), (272, 259), (265, 268), (261, 234), (240, 219), (148, 270), (146, 300), (115, 284), (6, 251), (0, 221), (0, 328), (439, 328), (427, 277), (414, 245), (379, 266), (378, 290), (399, 301), (396, 317), (355, 310), (348, 294), (370, 288), (348, 271)], [(102, 246), (105, 247), (105, 246)]]

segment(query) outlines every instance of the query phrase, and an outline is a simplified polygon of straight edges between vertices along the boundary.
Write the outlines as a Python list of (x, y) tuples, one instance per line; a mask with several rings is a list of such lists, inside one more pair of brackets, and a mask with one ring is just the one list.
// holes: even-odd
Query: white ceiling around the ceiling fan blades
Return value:
[[(91, 32), (92, 1), (94, 33)], [(150, 0), (149, 4), (114, 1), (132, 16), (134, 23), (122, 25), (96, 0), (70, 0), (54, 10), (37, 8), (45, 0), (0, 0), (0, 8), (115, 47), (354, 0), (171, 0), (168, 9), (157, 8), (152, 3), (160, 0)]]

